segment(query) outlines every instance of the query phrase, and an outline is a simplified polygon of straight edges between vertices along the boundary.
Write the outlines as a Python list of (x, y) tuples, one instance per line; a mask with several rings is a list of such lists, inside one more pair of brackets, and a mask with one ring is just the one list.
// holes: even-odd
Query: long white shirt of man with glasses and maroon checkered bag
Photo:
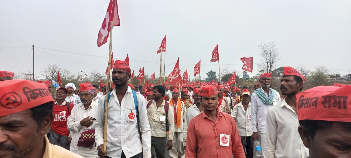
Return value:
[(69, 131), (73, 132), (71, 145), (69, 147), (69, 149), (72, 152), (78, 153), (78, 150), (84, 150), (84, 151), (92, 151), (93, 153), (96, 153), (96, 155), (98, 155), (97, 148), (96, 148), (97, 146), (95, 145), (93, 146), (92, 149), (90, 149), (89, 147), (77, 146), (79, 137), (81, 136), (80, 133), (95, 129), (95, 123), (96, 123), (96, 121), (94, 121), (94, 123), (89, 128), (86, 128), (85, 126), (80, 125), (80, 121), (84, 118), (87, 118), (88, 116), (89, 118), (90, 117), (97, 118), (98, 117), (97, 113), (98, 113), (98, 102), (95, 102), (95, 101), (91, 102), (90, 107), (87, 110), (85, 110), (83, 103), (79, 103), (73, 107), (71, 111), (71, 115), (69, 115), (67, 118), (67, 128)]

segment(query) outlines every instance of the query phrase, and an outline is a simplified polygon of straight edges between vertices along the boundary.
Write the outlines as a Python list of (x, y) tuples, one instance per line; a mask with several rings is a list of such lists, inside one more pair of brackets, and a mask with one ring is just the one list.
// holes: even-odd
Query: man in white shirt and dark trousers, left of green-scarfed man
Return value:
[(251, 104), (249, 102), (250, 92), (243, 89), (243, 100), (234, 106), (232, 116), (234, 117), (243, 144), (246, 158), (253, 158), (253, 138), (251, 129)]

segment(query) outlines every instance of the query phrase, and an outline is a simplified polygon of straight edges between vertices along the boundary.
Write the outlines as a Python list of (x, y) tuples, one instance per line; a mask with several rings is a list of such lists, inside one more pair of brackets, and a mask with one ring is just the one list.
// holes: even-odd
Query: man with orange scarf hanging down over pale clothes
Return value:
[(170, 150), (171, 158), (181, 158), (185, 154), (184, 145), (183, 145), (183, 129), (184, 129), (184, 113), (185, 105), (179, 98), (179, 90), (174, 88), (172, 91), (172, 98), (170, 103), (174, 115), (174, 135), (173, 135), (173, 146)]

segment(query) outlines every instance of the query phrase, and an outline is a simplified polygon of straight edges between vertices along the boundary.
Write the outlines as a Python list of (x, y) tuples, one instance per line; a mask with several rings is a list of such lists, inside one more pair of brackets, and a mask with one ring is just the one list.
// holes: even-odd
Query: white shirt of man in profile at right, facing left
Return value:
[(265, 158), (305, 158), (309, 150), (299, 135), (295, 111), (283, 100), (267, 112)]

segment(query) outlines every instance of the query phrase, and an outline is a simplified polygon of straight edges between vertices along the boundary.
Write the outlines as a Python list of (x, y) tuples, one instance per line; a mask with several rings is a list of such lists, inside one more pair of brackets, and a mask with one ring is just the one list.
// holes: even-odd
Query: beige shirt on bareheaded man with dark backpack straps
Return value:
[[(152, 102), (147, 108), (147, 119), (150, 124), (151, 136), (153, 137), (166, 137), (166, 111), (165, 111), (165, 100), (160, 107), (157, 108), (155, 100), (148, 101)], [(147, 105), (148, 103), (146, 103)], [(173, 108), (168, 105), (168, 126), (169, 126), (169, 138), (168, 140), (173, 140), (174, 135), (174, 116)], [(162, 121), (161, 121), (162, 120)]]

